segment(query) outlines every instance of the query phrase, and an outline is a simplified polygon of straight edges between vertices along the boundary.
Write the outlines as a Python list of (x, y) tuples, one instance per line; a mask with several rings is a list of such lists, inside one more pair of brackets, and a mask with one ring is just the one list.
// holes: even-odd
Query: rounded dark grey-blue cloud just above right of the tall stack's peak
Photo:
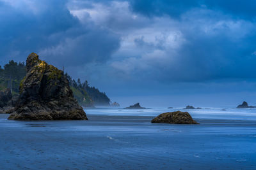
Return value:
[[(84, 27), (76, 29), (83, 31), (77, 36), (65, 36), (58, 45), (45, 48), (40, 52), (42, 56), (57, 66), (83, 66), (90, 62), (106, 62), (119, 48), (120, 39), (112, 32), (97, 27), (86, 31)], [(76, 29), (70, 30), (71, 33)]]

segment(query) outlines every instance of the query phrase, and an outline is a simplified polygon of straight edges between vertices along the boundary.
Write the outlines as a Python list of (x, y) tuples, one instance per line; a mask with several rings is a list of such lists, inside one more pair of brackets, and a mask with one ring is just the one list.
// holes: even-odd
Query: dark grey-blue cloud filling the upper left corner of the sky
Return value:
[(38, 1), (35, 7), (33, 11), (26, 5), (1, 4), (1, 57), (25, 57), (22, 55), (38, 52), (40, 48), (58, 43), (49, 36), (78, 24), (65, 8), (65, 1)]

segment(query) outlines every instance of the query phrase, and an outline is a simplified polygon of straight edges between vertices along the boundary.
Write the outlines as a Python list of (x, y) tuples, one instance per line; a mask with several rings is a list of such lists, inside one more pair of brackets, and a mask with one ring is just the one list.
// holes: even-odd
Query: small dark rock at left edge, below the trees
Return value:
[(0, 113), (8, 113), (13, 110), (18, 96), (13, 96), (10, 89), (0, 91)]

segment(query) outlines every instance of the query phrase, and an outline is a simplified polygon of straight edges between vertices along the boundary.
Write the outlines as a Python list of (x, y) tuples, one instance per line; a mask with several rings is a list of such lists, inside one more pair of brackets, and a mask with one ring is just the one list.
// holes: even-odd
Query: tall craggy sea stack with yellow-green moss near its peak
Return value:
[(74, 99), (63, 71), (31, 53), (26, 60), (26, 77), (12, 120), (88, 120)]

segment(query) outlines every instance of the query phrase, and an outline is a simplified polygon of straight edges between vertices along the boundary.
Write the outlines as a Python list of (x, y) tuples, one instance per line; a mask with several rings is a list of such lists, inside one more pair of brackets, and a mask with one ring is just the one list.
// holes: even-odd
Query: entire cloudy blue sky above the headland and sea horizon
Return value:
[(0, 64), (29, 53), (122, 106), (256, 105), (254, 0), (0, 0)]

